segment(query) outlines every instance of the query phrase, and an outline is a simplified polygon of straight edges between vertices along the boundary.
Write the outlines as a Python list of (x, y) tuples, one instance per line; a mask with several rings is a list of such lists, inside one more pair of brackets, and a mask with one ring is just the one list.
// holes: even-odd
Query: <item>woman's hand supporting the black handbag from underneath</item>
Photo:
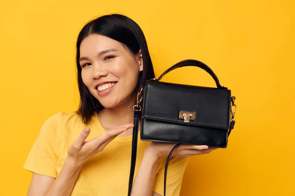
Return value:
[[(149, 152), (155, 155), (157, 158), (162, 158), (168, 156), (175, 145), (176, 144), (172, 143), (151, 142), (146, 149), (146, 153)], [(172, 156), (189, 157), (194, 155), (207, 154), (217, 148), (218, 147), (181, 144), (175, 149)]]

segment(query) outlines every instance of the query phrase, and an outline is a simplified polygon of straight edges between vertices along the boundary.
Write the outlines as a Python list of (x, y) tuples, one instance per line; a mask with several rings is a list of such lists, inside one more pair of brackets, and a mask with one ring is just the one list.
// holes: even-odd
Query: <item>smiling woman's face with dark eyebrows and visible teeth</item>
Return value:
[(122, 43), (91, 34), (80, 45), (82, 80), (90, 93), (106, 108), (134, 101), (140, 71), (141, 51), (134, 55)]

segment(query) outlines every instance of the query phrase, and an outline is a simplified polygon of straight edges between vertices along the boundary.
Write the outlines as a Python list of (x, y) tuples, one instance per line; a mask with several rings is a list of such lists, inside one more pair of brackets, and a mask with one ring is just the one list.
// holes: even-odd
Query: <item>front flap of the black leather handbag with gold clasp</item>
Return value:
[[(143, 98), (143, 118), (158, 121), (230, 128), (231, 91), (211, 87), (148, 80)], [(181, 112), (181, 114), (179, 114)], [(185, 123), (184, 116), (190, 117)]]

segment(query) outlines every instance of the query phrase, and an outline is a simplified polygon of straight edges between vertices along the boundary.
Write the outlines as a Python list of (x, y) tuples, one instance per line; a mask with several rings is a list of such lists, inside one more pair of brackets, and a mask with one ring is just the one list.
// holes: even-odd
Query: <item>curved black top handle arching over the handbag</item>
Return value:
[(171, 72), (171, 71), (173, 71), (173, 70), (175, 70), (177, 68), (186, 67), (186, 66), (199, 67), (199, 68), (205, 70), (214, 79), (217, 88), (227, 89), (227, 87), (224, 87), (224, 86), (220, 85), (216, 74), (205, 63), (202, 63), (201, 61), (198, 61), (198, 60), (191, 60), (191, 59), (187, 59), (187, 60), (183, 60), (183, 61), (178, 62), (177, 64), (175, 64), (172, 67), (170, 67), (169, 69), (167, 69), (164, 73), (162, 73), (158, 79), (153, 79), (153, 80), (159, 81), (160, 79), (162, 79), (162, 77), (165, 74), (167, 74), (167, 73), (169, 73), (169, 72)]

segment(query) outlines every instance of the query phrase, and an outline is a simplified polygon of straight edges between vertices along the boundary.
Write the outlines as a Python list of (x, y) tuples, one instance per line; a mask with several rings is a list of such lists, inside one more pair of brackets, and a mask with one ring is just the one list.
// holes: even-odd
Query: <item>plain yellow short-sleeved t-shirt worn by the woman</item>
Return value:
[[(59, 112), (44, 122), (24, 169), (38, 174), (57, 177), (67, 157), (67, 149), (85, 128), (76, 113)], [(98, 118), (87, 125), (90, 134), (87, 140), (106, 130)], [(143, 159), (144, 150), (150, 142), (138, 137), (137, 160), (134, 179)], [(103, 151), (89, 159), (82, 168), (71, 196), (126, 196), (130, 172), (132, 135), (116, 137)], [(178, 196), (187, 158), (173, 157), (167, 176), (167, 196)], [(161, 159), (157, 170), (154, 192), (163, 195), (163, 176), (166, 158)]]

